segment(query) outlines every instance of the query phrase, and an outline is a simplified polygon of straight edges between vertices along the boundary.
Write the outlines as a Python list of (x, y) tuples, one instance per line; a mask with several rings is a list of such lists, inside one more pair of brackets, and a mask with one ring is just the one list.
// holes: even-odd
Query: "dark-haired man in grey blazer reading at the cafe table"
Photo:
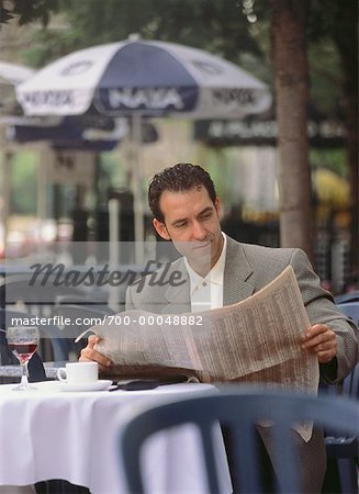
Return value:
[[(257, 292), (292, 266), (312, 324), (303, 338), (303, 351), (316, 355), (321, 373), (328, 382), (350, 372), (358, 361), (357, 328), (336, 310), (302, 250), (240, 244), (224, 235), (220, 199), (211, 177), (199, 166), (179, 164), (157, 173), (149, 183), (148, 203), (157, 233), (172, 240), (183, 256), (170, 269), (183, 273), (186, 282), (180, 287), (147, 283), (141, 291), (128, 288), (126, 308), (183, 313), (203, 310), (206, 304), (210, 308), (229, 305)], [(170, 271), (167, 274), (170, 277)], [(89, 338), (80, 360), (111, 366), (93, 349), (96, 341), (97, 338)], [(269, 430), (261, 428), (260, 434), (270, 451)], [(296, 440), (301, 445), (304, 492), (321, 492), (325, 470), (323, 435), (314, 429), (308, 442), (299, 436)]]

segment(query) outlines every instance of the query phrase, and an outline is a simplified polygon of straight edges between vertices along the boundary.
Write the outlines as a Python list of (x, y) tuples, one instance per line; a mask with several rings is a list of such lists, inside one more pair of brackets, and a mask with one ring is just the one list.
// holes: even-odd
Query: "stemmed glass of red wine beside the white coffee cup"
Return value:
[(7, 340), (9, 348), (13, 355), (18, 358), (22, 377), (19, 386), (13, 388), (14, 391), (35, 390), (36, 388), (29, 384), (29, 370), (27, 363), (32, 356), (35, 353), (38, 346), (38, 328), (35, 326), (13, 326), (7, 329)]

